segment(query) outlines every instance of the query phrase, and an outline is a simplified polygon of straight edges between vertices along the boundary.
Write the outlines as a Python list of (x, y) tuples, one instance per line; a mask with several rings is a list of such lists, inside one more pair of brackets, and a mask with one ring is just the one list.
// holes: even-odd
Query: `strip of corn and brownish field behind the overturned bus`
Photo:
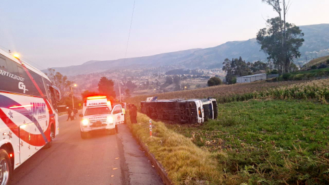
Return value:
[(234, 84), (183, 90), (155, 95), (142, 95), (127, 99), (128, 103), (140, 106), (147, 97), (156, 96), (158, 99), (199, 99), (214, 97), (219, 103), (231, 101), (246, 101), (248, 99), (316, 99), (327, 103), (329, 99), (329, 79), (313, 81), (287, 82), (254, 82), (249, 84)]

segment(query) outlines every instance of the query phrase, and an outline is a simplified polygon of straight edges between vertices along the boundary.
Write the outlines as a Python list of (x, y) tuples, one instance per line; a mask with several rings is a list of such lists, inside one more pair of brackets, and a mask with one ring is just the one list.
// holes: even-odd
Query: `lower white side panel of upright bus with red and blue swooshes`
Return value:
[[(50, 138), (48, 108), (44, 99), (38, 97), (0, 93), (0, 99), (4, 113), (1, 119), (10, 130), (10, 142), (15, 147), (19, 146), (15, 154), (20, 156), (20, 163), (23, 163), (45, 146)], [(19, 140), (12, 140), (14, 137)], [(16, 155), (15, 161), (19, 161)]]

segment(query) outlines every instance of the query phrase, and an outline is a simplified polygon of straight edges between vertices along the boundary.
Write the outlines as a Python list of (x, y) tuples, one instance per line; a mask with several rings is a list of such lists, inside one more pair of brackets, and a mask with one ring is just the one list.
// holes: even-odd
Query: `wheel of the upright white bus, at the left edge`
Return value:
[(8, 184), (12, 175), (12, 163), (7, 151), (0, 149), (0, 184)]

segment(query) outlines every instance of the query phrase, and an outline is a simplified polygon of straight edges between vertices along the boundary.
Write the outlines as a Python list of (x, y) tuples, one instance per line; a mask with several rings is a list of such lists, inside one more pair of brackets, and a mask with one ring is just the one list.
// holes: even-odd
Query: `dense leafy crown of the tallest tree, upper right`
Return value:
[[(280, 17), (267, 20), (268, 26), (260, 29), (257, 34), (257, 42), (261, 45), (260, 49), (267, 53), (268, 60), (273, 60), (273, 64), (280, 73), (288, 73), (294, 58), (300, 58), (299, 48), (303, 45), (304, 33), (300, 27), (286, 23), (286, 39), (282, 39), (284, 27), (280, 25)], [(284, 44), (282, 44), (282, 40)]]

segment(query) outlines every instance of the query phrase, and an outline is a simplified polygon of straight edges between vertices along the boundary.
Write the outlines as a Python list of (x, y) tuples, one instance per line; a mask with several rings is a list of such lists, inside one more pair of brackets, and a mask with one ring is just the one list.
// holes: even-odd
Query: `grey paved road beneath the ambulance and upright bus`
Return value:
[(11, 184), (162, 184), (127, 125), (119, 125), (119, 134), (95, 132), (82, 140), (79, 119), (59, 120), (53, 146), (17, 168)]

